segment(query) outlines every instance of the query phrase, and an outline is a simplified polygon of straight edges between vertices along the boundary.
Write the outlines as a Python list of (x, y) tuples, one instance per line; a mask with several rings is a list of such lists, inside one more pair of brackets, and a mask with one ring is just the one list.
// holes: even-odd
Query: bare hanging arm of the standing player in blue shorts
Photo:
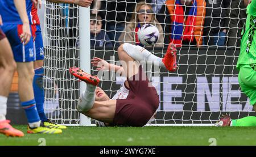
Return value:
[(20, 19), (22, 20), (22, 35), (20, 39), (22, 43), (26, 45), (31, 39), (30, 22), (28, 21), (26, 1), (25, 0), (14, 0), (14, 5), (19, 13)]

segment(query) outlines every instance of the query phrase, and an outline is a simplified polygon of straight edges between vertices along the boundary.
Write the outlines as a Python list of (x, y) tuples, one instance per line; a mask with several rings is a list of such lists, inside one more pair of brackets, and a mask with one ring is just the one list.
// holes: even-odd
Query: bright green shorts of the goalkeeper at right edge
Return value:
[(250, 104), (256, 104), (256, 70), (251, 65), (241, 65), (238, 74), (238, 81), (243, 93), (245, 93), (249, 99)]

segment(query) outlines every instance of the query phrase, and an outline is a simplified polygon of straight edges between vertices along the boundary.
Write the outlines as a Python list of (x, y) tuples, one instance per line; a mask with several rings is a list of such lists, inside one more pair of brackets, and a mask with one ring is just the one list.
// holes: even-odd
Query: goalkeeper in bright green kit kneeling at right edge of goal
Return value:
[[(256, 0), (249, 1), (249, 3), (237, 69), (241, 90), (249, 97), (250, 104), (256, 112)], [(232, 120), (226, 114), (220, 118), (216, 126), (256, 126), (256, 117), (248, 116)]]

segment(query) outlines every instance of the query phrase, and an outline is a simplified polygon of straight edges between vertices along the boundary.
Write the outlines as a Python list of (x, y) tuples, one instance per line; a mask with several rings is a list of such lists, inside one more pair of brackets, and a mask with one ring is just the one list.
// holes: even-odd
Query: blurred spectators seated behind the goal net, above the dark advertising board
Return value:
[(240, 46), (248, 0), (94, 0), (91, 46), (140, 45), (145, 23), (160, 32), (154, 46)]

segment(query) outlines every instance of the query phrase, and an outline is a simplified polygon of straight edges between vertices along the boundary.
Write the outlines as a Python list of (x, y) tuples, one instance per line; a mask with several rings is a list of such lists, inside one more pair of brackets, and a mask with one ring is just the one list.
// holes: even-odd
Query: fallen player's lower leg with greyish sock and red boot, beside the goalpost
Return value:
[(77, 104), (77, 111), (89, 111), (89, 109), (93, 107), (95, 100), (95, 90), (98, 83), (100, 83), (100, 79), (98, 79), (97, 76), (85, 73), (79, 67), (71, 67), (69, 68), (69, 72), (76, 78), (79, 78), (80, 80), (86, 82), (86, 90), (82, 92), (79, 98), (79, 102)]

